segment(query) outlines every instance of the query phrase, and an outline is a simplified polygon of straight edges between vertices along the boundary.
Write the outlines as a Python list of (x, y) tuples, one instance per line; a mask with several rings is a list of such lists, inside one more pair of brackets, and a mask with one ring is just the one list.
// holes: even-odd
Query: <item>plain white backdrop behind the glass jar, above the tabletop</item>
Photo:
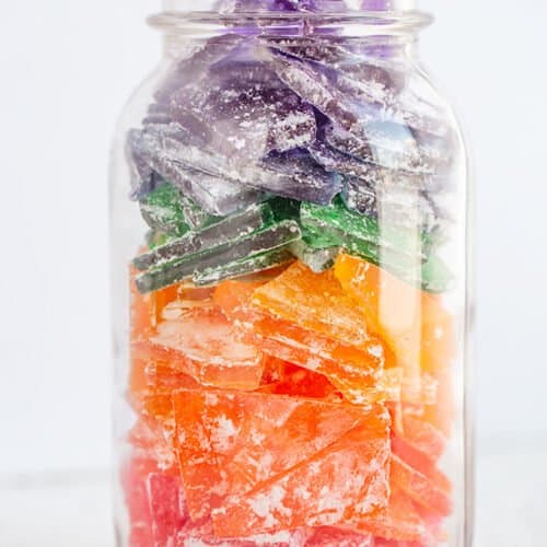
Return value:
[[(422, 5), (474, 151), (479, 446), (503, 451), (547, 435), (547, 2)], [(0, 475), (108, 465), (107, 151), (156, 8), (2, 2)]]

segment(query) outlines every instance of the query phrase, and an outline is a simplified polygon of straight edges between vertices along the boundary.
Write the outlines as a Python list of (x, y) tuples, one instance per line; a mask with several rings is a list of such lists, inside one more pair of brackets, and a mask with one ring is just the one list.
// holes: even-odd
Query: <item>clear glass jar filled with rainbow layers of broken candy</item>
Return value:
[(466, 160), (409, 2), (165, 2), (112, 162), (118, 545), (472, 544)]

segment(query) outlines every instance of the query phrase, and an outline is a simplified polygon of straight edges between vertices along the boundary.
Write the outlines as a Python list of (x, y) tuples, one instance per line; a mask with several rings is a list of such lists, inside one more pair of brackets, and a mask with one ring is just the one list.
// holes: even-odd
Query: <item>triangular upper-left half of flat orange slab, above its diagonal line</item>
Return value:
[[(286, 473), (360, 422), (380, 419), (348, 405), (263, 393), (183, 389), (173, 400), (193, 519)], [(236, 535), (247, 532), (255, 533)]]

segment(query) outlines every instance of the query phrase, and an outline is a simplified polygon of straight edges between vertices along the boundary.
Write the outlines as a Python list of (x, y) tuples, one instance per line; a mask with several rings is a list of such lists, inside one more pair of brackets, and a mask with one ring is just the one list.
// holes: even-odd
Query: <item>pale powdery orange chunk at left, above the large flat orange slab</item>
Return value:
[(151, 361), (168, 363), (202, 385), (255, 389), (260, 384), (263, 357), (238, 341), (233, 325), (219, 309), (196, 309), (158, 325), (136, 351)]

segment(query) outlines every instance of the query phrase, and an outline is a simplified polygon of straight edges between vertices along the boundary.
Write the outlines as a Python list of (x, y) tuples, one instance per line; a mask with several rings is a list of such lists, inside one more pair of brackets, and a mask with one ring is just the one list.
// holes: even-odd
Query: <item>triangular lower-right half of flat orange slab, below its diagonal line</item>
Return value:
[(213, 511), (216, 532), (232, 537), (345, 525), (385, 508), (388, 418), (381, 406), (366, 414), (356, 428), (287, 473), (231, 497)]

